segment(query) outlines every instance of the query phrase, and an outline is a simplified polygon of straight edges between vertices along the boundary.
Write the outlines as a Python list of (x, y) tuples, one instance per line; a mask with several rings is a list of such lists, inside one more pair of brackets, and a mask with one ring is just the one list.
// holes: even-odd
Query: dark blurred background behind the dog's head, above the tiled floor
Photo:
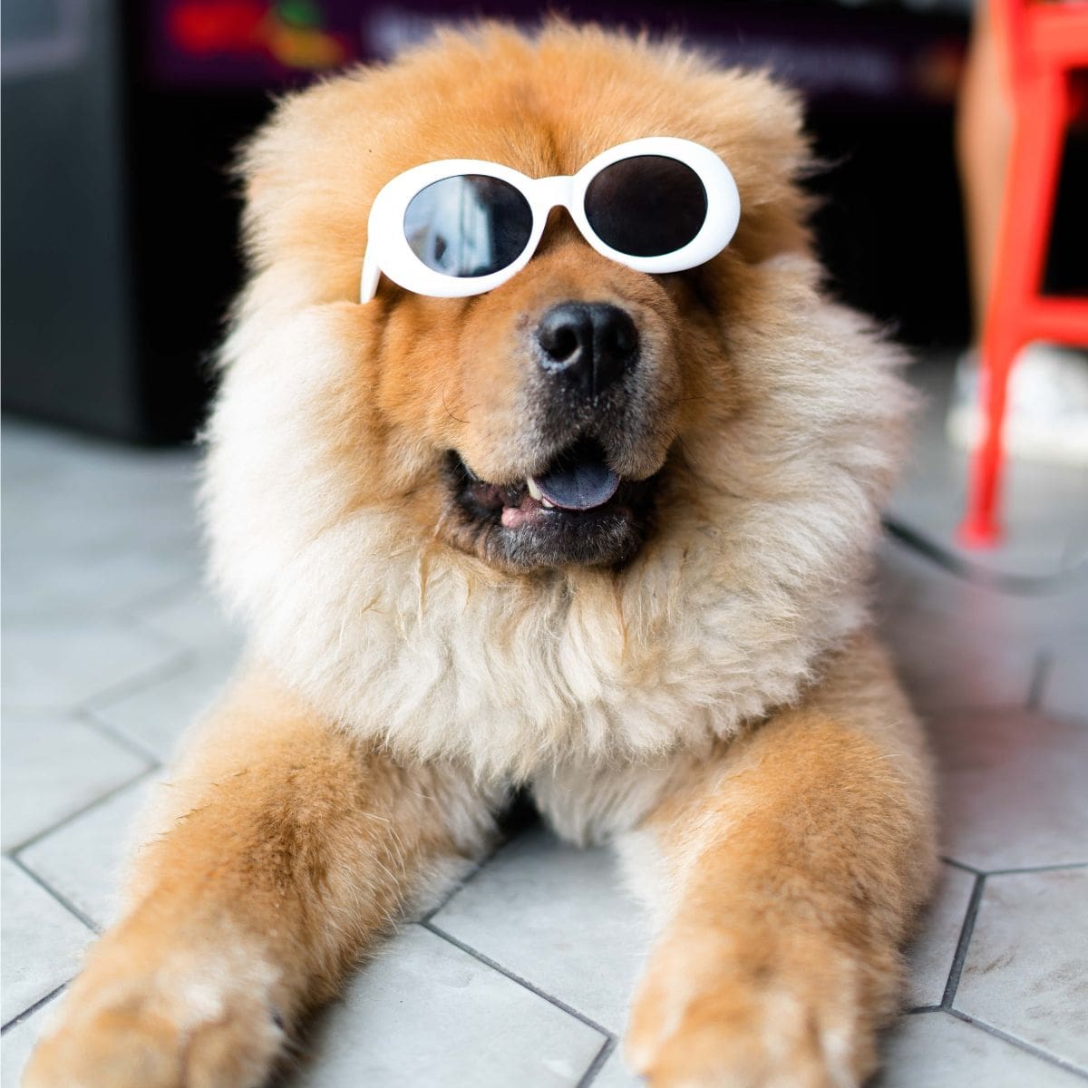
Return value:
[[(826, 164), (811, 186), (833, 289), (911, 344), (967, 342), (953, 156), (966, 0), (562, 10), (678, 30), (800, 87)], [(188, 437), (240, 275), (227, 164), (274, 95), (390, 58), (436, 21), (540, 13), (516, 0), (4, 0), (5, 407), (135, 442)], [(1084, 151), (1066, 158), (1060, 222), (1083, 220), (1075, 194), (1088, 191)], [(1054, 232), (1059, 282), (1076, 275), (1062, 245), (1076, 234)]]

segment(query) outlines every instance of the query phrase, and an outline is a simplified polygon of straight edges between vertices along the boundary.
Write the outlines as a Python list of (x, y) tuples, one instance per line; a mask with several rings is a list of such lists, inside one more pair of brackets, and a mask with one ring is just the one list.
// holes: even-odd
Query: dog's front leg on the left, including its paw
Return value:
[(453, 769), (396, 766), (261, 678), (195, 738), (166, 805), (26, 1088), (259, 1085), (301, 1013), (491, 826)]

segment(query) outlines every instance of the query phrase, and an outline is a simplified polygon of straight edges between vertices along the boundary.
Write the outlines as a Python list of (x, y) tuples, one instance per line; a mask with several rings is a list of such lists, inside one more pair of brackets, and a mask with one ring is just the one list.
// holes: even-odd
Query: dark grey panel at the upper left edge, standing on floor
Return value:
[[(69, 5), (77, 8), (79, 5)], [(7, 0), (0, 95), (5, 407), (108, 433), (139, 415), (115, 12)]]

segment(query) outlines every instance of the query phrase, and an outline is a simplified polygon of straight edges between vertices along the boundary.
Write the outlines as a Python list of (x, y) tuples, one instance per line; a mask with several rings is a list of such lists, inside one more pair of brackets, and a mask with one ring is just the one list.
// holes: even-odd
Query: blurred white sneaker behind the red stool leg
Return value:
[[(978, 351), (956, 363), (944, 429), (949, 442), (974, 449), (982, 440)], [(1004, 447), (1026, 461), (1088, 465), (1088, 355), (1055, 344), (1028, 344), (1009, 375)]]

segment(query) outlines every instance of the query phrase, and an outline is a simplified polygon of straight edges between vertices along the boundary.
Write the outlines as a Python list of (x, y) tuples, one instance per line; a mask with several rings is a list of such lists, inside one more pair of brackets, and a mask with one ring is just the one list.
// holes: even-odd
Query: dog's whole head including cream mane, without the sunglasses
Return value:
[[(490, 292), (382, 276), (360, 305), (391, 178), (572, 175), (648, 136), (735, 178), (705, 263), (635, 271), (557, 209)], [(806, 161), (765, 76), (564, 24), (447, 35), (285, 100), (244, 157), (252, 276), (207, 489), (263, 653), (341, 718), (495, 766), (591, 721), (659, 750), (791, 697), (864, 615), (904, 407), (897, 355), (820, 295)]]

